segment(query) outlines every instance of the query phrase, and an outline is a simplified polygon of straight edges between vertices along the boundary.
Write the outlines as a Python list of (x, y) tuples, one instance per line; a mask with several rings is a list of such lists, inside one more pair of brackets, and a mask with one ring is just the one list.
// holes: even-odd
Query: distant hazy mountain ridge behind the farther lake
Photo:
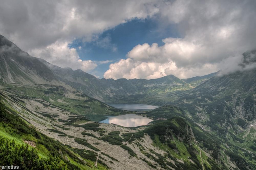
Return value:
[(54, 73), (58, 80), (71, 85), (71, 87), (90, 97), (107, 103), (140, 102), (140, 99), (143, 99), (145, 96), (188, 90), (216, 75), (216, 73), (212, 73), (189, 79), (179, 79), (173, 75), (151, 80), (127, 80), (125, 78), (118, 80), (98, 79), (81, 70), (73, 71), (71, 68), (60, 68), (43, 59), (39, 60)]

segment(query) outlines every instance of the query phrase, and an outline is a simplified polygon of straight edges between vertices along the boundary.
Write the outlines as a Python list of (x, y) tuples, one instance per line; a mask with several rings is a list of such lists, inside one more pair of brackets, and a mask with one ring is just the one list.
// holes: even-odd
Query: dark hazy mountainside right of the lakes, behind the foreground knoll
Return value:
[(152, 105), (181, 107), (195, 121), (218, 134), (256, 126), (256, 69), (215, 76), (194, 89), (142, 100)]

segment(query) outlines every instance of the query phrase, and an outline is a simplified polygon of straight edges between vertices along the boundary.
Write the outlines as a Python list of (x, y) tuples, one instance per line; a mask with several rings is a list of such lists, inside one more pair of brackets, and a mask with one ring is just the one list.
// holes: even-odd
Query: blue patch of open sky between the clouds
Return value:
[[(76, 48), (82, 60), (98, 61), (98, 67), (90, 73), (102, 78), (109, 64), (125, 59), (136, 45), (158, 43), (161, 46), (164, 44), (162, 39), (169, 37), (180, 37), (175, 24), (163, 25), (157, 19), (133, 19), (104, 31), (91, 42), (76, 39), (69, 47)], [(100, 62), (107, 60), (109, 62)]]

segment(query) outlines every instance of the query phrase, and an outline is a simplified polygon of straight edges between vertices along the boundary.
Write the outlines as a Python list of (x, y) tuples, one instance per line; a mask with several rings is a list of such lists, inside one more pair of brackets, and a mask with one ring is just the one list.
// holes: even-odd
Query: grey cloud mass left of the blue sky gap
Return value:
[[(92, 41), (103, 31), (121, 23), (152, 17), (159, 12), (154, 1), (1, 1), (0, 34), (35, 57), (58, 66), (88, 71), (97, 65), (90, 60), (81, 61), (76, 50), (68, 49), (67, 44), (75, 38)], [(108, 37), (95, 42), (117, 50), (115, 45), (109, 45)]]

